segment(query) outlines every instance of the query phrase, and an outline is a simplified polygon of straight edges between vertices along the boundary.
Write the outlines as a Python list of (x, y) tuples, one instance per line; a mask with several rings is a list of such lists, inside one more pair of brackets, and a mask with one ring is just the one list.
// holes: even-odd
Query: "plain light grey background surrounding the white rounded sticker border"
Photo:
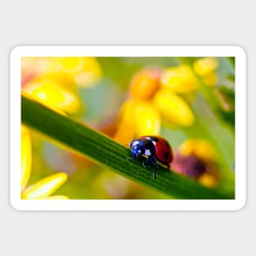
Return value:
[[(2, 1), (3, 2), (3, 1)], [(8, 1), (0, 6), (1, 255), (256, 253), (253, 1)], [(239, 2), (239, 4), (237, 3)], [(248, 195), (237, 212), (19, 212), (9, 203), (9, 52), (16, 45), (239, 45), (248, 64)], [(237, 85), (239, 86), (239, 85)]]

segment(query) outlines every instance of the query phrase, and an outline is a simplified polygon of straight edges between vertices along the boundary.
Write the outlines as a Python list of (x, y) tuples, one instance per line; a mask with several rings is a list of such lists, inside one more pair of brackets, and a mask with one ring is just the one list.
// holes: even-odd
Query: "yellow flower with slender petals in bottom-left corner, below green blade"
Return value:
[(52, 195), (67, 180), (66, 173), (56, 173), (44, 177), (27, 187), (31, 173), (31, 163), (32, 150), (29, 130), (25, 126), (21, 126), (21, 199), (68, 199), (65, 195)]

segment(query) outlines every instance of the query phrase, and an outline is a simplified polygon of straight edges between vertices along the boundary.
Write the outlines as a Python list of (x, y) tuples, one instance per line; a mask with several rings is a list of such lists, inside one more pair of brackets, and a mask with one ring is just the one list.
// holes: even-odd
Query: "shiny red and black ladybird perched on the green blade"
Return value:
[(136, 140), (131, 141), (130, 149), (132, 159), (138, 159), (141, 156), (146, 156), (146, 159), (143, 161), (143, 167), (147, 167), (148, 164), (154, 165), (153, 179), (155, 179), (158, 163), (169, 168), (170, 163), (173, 160), (173, 151), (164, 137), (139, 137)]

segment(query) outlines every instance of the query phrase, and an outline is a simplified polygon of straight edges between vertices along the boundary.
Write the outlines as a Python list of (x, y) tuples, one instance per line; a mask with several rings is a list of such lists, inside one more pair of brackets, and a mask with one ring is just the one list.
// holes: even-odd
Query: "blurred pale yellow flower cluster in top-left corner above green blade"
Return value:
[(101, 77), (93, 57), (44, 57), (22, 59), (22, 92), (53, 110), (73, 114), (81, 102), (78, 87), (92, 87)]

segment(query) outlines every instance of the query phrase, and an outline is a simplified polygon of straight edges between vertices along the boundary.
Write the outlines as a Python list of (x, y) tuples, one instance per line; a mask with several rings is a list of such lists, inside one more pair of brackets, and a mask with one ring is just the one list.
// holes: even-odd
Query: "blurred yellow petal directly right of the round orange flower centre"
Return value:
[(199, 87), (189, 65), (179, 65), (164, 70), (161, 76), (161, 85), (176, 93), (193, 92)]

